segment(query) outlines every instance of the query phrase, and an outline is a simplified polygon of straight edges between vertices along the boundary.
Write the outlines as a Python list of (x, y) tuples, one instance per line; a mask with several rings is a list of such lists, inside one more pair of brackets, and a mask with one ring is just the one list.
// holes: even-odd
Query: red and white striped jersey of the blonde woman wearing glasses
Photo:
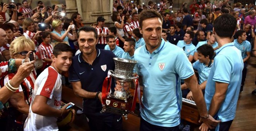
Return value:
[[(7, 76), (4, 77), (4, 79), (1, 79), (1, 86), (4, 86), (10, 79), (14, 77), (15, 74), (10, 73)], [(3, 82), (2, 82), (3, 81)], [(26, 101), (27, 104), (30, 104), (32, 100), (32, 92), (34, 89), (34, 83), (36, 81), (36, 72), (33, 70), (28, 77), (26, 77), (22, 82), (22, 86), (24, 87), (24, 101)], [(22, 86), (19, 85), (19, 89), (15, 92), (23, 92)]]

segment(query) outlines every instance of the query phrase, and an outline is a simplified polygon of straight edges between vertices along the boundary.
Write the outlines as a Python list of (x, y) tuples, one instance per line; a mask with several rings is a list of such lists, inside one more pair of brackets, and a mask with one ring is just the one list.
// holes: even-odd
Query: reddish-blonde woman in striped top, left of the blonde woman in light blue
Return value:
[(22, 23), (22, 28), (24, 30), (23, 35), (26, 38), (33, 40), (33, 42), (35, 42), (35, 44), (37, 44), (37, 38), (39, 37), (39, 33), (41, 31), (38, 31), (36, 33), (34, 32), (35, 22), (31, 18), (26, 18)]

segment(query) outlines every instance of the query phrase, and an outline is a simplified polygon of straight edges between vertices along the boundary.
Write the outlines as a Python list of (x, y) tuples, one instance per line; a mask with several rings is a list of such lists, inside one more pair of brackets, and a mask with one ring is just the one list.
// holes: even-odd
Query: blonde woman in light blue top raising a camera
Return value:
[[(52, 22), (52, 28), (54, 31), (51, 32), (52, 36), (52, 45), (56, 45), (57, 43), (66, 43), (69, 45), (68, 39), (76, 40), (76, 27), (72, 24), (69, 25), (66, 31), (63, 31), (62, 21), (56, 19)], [(73, 28), (72, 28), (73, 27)], [(73, 35), (68, 34), (69, 31), (72, 29)]]

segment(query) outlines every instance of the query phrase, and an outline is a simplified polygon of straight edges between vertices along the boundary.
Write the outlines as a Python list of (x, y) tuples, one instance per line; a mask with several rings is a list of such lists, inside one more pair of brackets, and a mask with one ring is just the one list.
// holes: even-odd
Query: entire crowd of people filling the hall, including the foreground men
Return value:
[[(71, 103), (61, 101), (66, 84), (83, 98), (90, 130), (121, 131), (121, 115), (100, 113), (114, 57), (138, 62), (134, 72), (144, 86), (141, 131), (189, 131), (190, 123), (180, 119), (182, 97), (197, 104), (201, 131), (230, 128), (247, 61), (256, 55), (254, 4), (193, 0), (174, 10), (171, 0), (147, 5), (114, 0), (113, 24), (106, 27), (102, 16), (85, 26), (79, 13), (66, 16), (64, 4), (38, 1), (31, 8), (32, 2), (0, 8), (3, 130), (58, 131), (57, 118), (68, 113), (73, 121)], [(122, 87), (129, 89), (130, 83), (121, 86), (112, 79), (112, 91)]]

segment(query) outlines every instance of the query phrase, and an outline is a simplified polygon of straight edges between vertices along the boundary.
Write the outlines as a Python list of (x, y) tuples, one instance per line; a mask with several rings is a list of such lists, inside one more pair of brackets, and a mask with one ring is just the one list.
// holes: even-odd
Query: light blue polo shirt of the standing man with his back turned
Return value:
[[(244, 63), (241, 51), (234, 46), (234, 43), (223, 45), (214, 58), (213, 66), (208, 76), (204, 99), (207, 110), (215, 93), (215, 82), (228, 83), (226, 97), (215, 114), (214, 118), (221, 122), (230, 121), (235, 118), (237, 100), (242, 80)], [(218, 130), (218, 127), (216, 129)]]

